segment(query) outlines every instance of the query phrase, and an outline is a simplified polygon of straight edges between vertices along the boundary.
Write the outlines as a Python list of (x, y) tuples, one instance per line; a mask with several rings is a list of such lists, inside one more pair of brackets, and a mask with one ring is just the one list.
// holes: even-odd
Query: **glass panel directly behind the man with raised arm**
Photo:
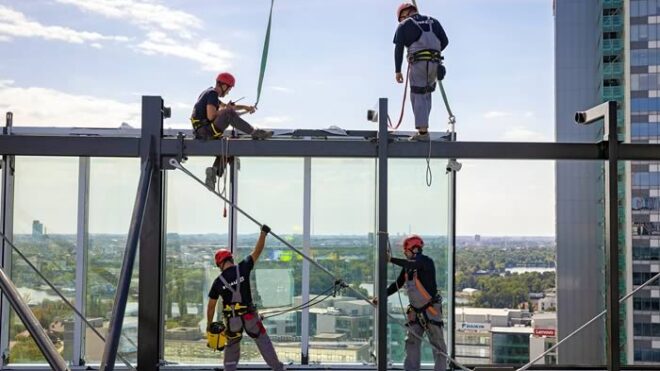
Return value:
[[(303, 160), (241, 158), (238, 205), (288, 243), (302, 250)], [(236, 262), (254, 249), (259, 227), (238, 218)], [(213, 275), (219, 273), (213, 270)], [(300, 311), (302, 258), (272, 235), (251, 275), (252, 299), (264, 315), (263, 325), (280, 361), (300, 363)], [(241, 364), (263, 363), (254, 341), (241, 341)]]

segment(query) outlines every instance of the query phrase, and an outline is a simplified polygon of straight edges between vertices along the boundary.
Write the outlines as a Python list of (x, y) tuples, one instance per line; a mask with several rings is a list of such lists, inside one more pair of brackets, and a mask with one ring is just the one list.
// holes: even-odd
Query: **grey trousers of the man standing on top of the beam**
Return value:
[[(410, 87), (424, 88), (434, 86), (438, 79), (438, 64), (433, 62), (414, 62), (410, 66)], [(410, 103), (412, 103), (415, 115), (415, 128), (428, 130), (429, 116), (431, 115), (431, 94), (417, 94), (410, 92)]]

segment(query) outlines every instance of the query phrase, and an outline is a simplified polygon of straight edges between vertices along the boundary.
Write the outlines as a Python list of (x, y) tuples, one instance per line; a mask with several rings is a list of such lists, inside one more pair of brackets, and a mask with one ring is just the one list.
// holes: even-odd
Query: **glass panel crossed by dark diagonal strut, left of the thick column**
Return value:
[[(104, 336), (108, 333), (139, 177), (138, 159), (90, 160), (86, 314)], [(138, 272), (136, 259), (119, 343), (119, 353), (132, 363), (137, 356)], [(104, 346), (85, 326), (86, 362), (100, 363)], [(123, 365), (120, 360), (116, 364)]]

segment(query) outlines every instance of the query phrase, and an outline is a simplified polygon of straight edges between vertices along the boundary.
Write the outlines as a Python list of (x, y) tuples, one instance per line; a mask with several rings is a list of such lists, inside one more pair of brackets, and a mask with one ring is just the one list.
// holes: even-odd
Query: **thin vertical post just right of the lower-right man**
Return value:
[[(452, 133), (451, 141), (456, 141), (455, 132)], [(450, 161), (452, 160), (455, 159), (450, 159)], [(447, 180), (449, 183), (449, 228), (447, 235), (447, 265), (449, 267), (447, 289), (449, 292), (445, 296), (449, 298), (447, 302), (447, 322), (449, 322), (449, 326), (447, 326), (447, 344), (449, 346), (447, 353), (454, 359), (456, 358), (456, 337), (454, 336), (456, 334), (456, 280), (454, 279), (456, 276), (456, 175), (456, 171), (450, 171)], [(454, 369), (454, 364), (452, 363), (450, 367)]]

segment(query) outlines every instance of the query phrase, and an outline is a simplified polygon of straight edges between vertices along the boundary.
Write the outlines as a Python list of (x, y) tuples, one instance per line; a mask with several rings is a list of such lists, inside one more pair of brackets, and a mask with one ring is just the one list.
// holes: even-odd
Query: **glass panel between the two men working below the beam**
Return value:
[[(338, 278), (372, 296), (376, 234), (375, 161), (312, 160), (312, 256)], [(310, 269), (310, 297), (333, 286)], [(310, 309), (310, 363), (371, 363), (374, 310), (351, 291)]]

